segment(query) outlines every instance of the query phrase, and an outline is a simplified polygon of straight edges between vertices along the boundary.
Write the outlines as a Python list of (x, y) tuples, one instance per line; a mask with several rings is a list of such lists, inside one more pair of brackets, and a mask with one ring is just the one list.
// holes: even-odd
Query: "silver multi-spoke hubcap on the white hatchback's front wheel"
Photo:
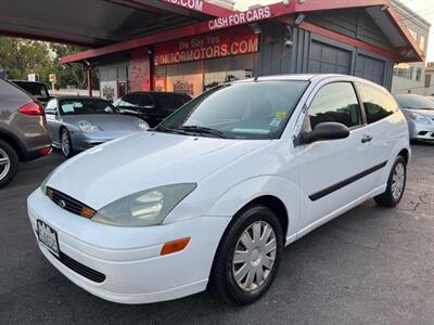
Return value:
[(270, 224), (257, 221), (244, 230), (232, 259), (237, 285), (244, 291), (264, 285), (275, 266), (276, 251), (276, 234)]

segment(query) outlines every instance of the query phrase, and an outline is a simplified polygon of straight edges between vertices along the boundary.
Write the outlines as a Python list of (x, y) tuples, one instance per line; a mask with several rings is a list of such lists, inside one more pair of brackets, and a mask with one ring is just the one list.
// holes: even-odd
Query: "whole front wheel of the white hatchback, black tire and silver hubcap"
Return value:
[(210, 290), (232, 304), (243, 306), (259, 299), (278, 273), (283, 237), (280, 221), (268, 207), (255, 205), (240, 211), (217, 249)]

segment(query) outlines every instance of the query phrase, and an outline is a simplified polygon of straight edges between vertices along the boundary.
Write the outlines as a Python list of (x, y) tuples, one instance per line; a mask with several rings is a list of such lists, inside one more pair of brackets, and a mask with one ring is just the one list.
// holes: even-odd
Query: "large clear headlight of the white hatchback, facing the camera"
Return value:
[(131, 194), (97, 211), (92, 221), (117, 226), (157, 225), (196, 186), (173, 184)]

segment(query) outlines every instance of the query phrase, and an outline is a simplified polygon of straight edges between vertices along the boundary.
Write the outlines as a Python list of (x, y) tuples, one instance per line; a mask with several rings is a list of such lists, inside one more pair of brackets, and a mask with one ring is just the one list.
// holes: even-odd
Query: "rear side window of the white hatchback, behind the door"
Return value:
[(368, 123), (381, 120), (399, 109), (392, 95), (376, 87), (357, 82), (357, 89), (363, 102)]

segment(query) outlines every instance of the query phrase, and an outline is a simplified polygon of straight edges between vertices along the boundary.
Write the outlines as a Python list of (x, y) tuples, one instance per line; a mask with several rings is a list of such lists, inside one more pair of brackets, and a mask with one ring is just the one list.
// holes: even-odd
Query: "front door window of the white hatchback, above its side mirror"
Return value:
[(348, 128), (362, 125), (360, 105), (350, 82), (323, 86), (310, 103), (308, 114), (311, 129), (321, 122), (340, 122)]

